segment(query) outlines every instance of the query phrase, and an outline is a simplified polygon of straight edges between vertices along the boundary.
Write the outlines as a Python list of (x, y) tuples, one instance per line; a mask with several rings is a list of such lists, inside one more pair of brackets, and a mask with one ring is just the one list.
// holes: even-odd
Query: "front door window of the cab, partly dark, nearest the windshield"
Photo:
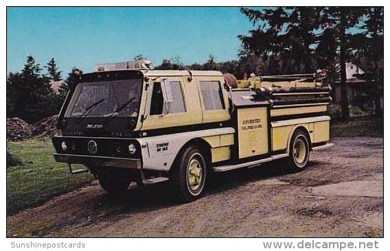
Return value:
[(179, 81), (154, 82), (150, 115), (167, 115), (185, 111), (183, 91)]

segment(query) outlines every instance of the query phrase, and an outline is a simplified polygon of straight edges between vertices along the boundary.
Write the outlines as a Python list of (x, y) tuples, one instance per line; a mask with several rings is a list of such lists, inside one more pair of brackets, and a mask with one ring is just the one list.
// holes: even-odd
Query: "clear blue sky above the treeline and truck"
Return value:
[(252, 28), (238, 8), (8, 8), (7, 71), (28, 55), (41, 66), (54, 57), (63, 77), (138, 54), (154, 65), (177, 55), (205, 62), (209, 53), (219, 62), (237, 58), (237, 36)]

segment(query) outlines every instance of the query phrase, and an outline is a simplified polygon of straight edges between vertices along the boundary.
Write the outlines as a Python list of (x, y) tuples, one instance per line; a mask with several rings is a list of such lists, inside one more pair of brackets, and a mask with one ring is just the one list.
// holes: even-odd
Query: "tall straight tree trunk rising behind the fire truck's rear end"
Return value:
[(345, 27), (347, 26), (347, 17), (345, 9), (341, 8), (340, 19), (340, 85), (341, 85), (341, 117), (343, 120), (349, 118), (348, 93), (347, 93), (347, 73), (345, 72), (345, 57), (347, 54), (347, 45), (345, 40)]

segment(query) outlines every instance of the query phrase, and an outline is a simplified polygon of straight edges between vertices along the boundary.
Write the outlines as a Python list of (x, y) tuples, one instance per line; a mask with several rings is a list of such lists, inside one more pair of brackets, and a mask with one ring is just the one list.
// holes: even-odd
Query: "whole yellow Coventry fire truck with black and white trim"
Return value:
[(318, 73), (231, 82), (220, 71), (154, 70), (147, 60), (99, 64), (65, 99), (54, 157), (111, 193), (170, 180), (190, 201), (211, 172), (281, 158), (304, 169), (310, 151), (332, 145), (329, 93)]

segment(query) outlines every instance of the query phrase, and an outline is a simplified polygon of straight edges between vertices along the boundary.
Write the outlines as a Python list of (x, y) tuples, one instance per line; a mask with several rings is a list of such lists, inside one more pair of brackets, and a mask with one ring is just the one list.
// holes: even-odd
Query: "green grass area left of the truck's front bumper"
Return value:
[(37, 206), (56, 195), (78, 189), (93, 180), (88, 173), (71, 176), (67, 165), (56, 163), (51, 140), (8, 142), (8, 148), (23, 165), (7, 168), (7, 214)]

